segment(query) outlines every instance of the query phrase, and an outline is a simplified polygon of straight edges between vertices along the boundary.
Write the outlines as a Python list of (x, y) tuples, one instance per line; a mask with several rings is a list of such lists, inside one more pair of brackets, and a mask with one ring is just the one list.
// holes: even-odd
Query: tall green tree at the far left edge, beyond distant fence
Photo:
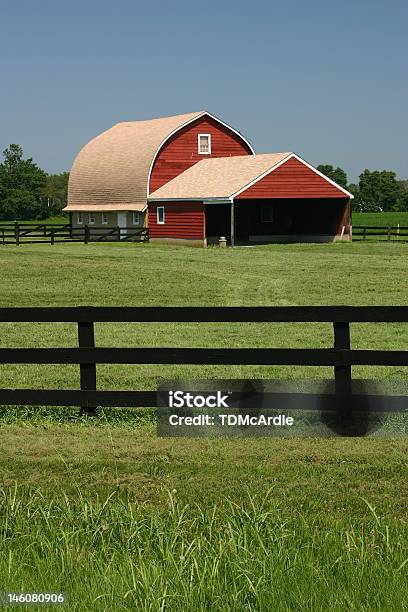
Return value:
[(47, 208), (42, 191), (47, 174), (31, 158), (23, 159), (20, 145), (11, 144), (3, 151), (0, 164), (0, 219), (43, 219)]

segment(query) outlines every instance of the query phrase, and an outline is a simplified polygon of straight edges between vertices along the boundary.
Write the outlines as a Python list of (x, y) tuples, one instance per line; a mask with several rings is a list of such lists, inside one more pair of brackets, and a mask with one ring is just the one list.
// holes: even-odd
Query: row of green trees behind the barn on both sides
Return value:
[[(391, 170), (364, 170), (358, 183), (348, 183), (342, 168), (320, 164), (317, 169), (354, 195), (353, 210), (408, 211), (408, 180)], [(0, 163), (0, 220), (45, 219), (61, 214), (67, 204), (68, 172), (48, 174), (32, 158), (24, 159), (20, 145), (3, 151)]]

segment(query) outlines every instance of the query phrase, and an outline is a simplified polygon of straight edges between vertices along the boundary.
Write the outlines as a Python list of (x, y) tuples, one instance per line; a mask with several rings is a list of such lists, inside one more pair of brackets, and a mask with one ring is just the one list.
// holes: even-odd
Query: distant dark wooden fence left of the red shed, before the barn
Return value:
[(149, 239), (146, 227), (106, 227), (84, 225), (72, 227), (69, 223), (0, 223), (0, 244), (55, 244), (56, 242), (140, 241)]

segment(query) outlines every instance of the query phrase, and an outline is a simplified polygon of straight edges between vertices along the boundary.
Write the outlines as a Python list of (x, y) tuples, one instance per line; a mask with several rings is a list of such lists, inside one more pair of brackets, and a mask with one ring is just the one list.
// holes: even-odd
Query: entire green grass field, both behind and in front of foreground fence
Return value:
[[(1, 306), (405, 305), (408, 245), (0, 248)], [(408, 326), (354, 325), (356, 348)], [(110, 324), (99, 346), (332, 344), (330, 325)], [(1, 346), (72, 346), (74, 325), (1, 325)], [(403, 380), (404, 368), (355, 376)], [(297, 367), (99, 366), (99, 388), (172, 377), (329, 377)], [(3, 366), (1, 387), (78, 388), (76, 366)], [(3, 408), (3, 590), (69, 610), (403, 610), (404, 438), (159, 439), (152, 413)], [(72, 415), (73, 418), (70, 418)], [(74, 418), (75, 417), (75, 418)]]

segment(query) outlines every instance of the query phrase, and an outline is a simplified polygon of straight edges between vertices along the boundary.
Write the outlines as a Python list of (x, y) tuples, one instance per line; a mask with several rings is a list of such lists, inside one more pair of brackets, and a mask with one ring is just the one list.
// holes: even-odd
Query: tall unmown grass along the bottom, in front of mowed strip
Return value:
[[(264, 496), (162, 507), (0, 490), (4, 589), (58, 590), (69, 610), (402, 610), (406, 525), (286, 517)], [(364, 504), (364, 500), (361, 500)]]

